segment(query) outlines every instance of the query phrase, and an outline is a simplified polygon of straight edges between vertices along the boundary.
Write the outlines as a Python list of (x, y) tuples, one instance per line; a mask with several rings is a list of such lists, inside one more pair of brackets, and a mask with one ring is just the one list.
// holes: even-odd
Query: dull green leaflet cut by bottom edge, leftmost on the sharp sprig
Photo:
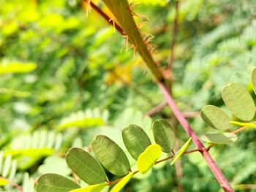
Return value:
[(37, 192), (69, 192), (80, 188), (78, 184), (59, 174), (43, 174), (37, 181)]

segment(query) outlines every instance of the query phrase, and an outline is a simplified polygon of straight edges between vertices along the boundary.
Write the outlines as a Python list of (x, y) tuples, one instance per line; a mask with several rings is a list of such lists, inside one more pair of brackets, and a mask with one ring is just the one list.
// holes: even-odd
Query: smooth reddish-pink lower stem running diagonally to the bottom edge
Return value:
[(222, 171), (219, 169), (217, 164), (215, 163), (214, 159), (211, 158), (211, 155), (208, 153), (208, 150), (206, 147), (204, 147), (203, 143), (200, 142), (200, 140), (197, 137), (197, 134), (192, 130), (192, 128), (189, 126), (189, 123), (184, 118), (184, 115), (178, 110), (178, 107), (176, 105), (176, 102), (173, 100), (172, 96), (170, 96), (170, 93), (166, 86), (162, 82), (158, 82), (159, 88), (161, 89), (162, 93), (165, 96), (165, 99), (167, 101), (167, 104), (169, 105), (170, 109), (173, 111), (173, 114), (178, 119), (179, 123), (181, 123), (181, 126), (184, 128), (184, 130), (189, 134), (190, 137), (192, 137), (192, 141), (194, 142), (195, 146), (198, 150), (201, 150), (201, 154), (203, 155), (203, 158), (206, 160), (206, 163), (208, 164), (209, 168), (211, 169), (211, 172), (214, 174), (214, 176), (217, 178), (217, 181), (219, 185), (222, 186), (224, 191), (232, 192), (233, 188), (228, 183), (227, 179), (225, 178)]

